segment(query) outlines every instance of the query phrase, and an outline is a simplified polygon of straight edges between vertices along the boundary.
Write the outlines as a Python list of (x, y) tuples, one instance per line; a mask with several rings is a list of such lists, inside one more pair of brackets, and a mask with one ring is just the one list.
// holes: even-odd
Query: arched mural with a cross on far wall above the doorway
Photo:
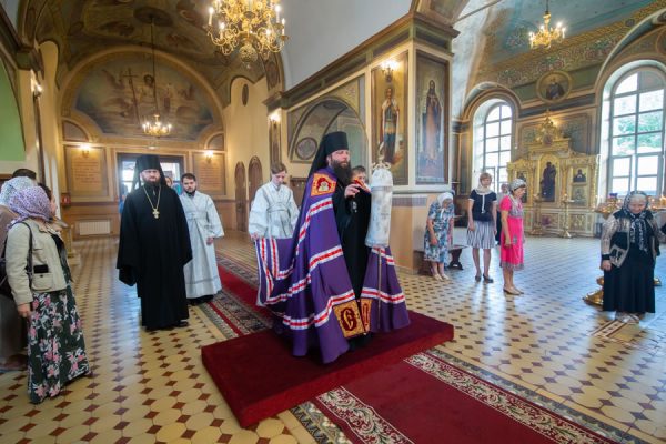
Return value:
[(173, 125), (170, 138), (196, 140), (214, 123), (206, 94), (183, 73), (157, 65), (158, 85), (150, 59), (107, 61), (91, 69), (75, 92), (73, 107), (89, 115), (105, 134), (141, 137), (141, 122), (152, 119), (154, 98), (161, 120)]

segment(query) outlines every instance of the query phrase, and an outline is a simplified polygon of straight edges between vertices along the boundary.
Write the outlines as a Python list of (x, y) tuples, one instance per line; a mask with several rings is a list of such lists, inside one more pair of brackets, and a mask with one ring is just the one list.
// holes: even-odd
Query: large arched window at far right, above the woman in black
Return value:
[(662, 194), (664, 186), (664, 74), (635, 69), (610, 87), (608, 192)]

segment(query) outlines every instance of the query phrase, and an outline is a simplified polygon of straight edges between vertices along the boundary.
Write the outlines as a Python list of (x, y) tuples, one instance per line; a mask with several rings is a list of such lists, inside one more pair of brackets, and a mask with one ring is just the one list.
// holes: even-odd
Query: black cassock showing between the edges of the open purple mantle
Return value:
[(356, 299), (361, 296), (370, 249), (365, 235), (370, 225), (370, 193), (361, 190), (354, 198), (344, 198), (345, 185), (339, 180), (333, 193), (333, 209), (340, 244)]

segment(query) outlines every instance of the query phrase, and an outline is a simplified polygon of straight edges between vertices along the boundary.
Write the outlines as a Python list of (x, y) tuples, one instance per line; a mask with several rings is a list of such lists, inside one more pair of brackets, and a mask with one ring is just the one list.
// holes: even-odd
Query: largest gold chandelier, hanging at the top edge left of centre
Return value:
[(280, 10), (280, 0), (213, 0), (206, 31), (224, 56), (239, 48), (245, 64), (266, 60), (289, 39)]

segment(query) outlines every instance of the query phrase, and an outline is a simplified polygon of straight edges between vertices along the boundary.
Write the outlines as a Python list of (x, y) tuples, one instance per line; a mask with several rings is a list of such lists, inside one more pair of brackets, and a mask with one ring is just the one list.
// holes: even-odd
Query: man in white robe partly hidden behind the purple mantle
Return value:
[(284, 185), (286, 167), (283, 163), (271, 165), (271, 181), (263, 184), (254, 195), (250, 211), (250, 236), (291, 238), (299, 219), (299, 208), (294, 193)]

